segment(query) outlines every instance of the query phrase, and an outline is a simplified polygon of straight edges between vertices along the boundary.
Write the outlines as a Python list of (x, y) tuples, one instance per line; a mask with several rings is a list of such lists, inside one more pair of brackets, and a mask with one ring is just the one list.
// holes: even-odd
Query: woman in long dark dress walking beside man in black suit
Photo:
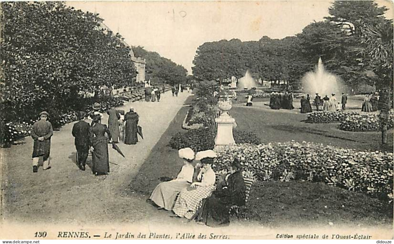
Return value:
[[(97, 175), (106, 175), (110, 172), (110, 164), (108, 160), (108, 138), (111, 138), (111, 132), (106, 125), (100, 123), (101, 116), (93, 115), (91, 124), (90, 143), (92, 145), (93, 173)], [(111, 142), (111, 139), (110, 139)]]

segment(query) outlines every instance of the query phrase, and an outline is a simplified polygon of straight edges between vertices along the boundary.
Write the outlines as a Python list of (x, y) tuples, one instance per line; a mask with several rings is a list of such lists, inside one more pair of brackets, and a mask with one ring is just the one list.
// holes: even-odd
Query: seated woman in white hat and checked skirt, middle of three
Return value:
[(199, 209), (201, 201), (212, 194), (215, 189), (216, 176), (211, 166), (216, 156), (212, 150), (196, 154), (196, 160), (201, 160), (201, 164), (203, 164), (203, 168), (197, 176), (199, 182), (193, 182), (190, 187), (180, 191), (173, 208), (177, 216), (191, 219)]

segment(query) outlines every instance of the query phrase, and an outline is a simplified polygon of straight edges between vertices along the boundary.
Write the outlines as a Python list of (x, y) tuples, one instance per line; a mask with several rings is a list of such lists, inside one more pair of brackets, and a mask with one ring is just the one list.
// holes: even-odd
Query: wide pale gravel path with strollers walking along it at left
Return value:
[[(162, 95), (160, 102), (128, 102), (119, 108), (128, 111), (133, 106), (139, 114), (145, 140), (136, 145), (118, 145), (125, 153), (123, 158), (109, 149), (110, 174), (95, 177), (91, 169), (80, 171), (76, 166), (72, 125), (55, 131), (51, 145), (52, 168), (32, 173), (32, 138), (23, 145), (1, 149), (2, 160), (2, 217), (14, 223), (76, 224), (126, 223), (145, 220), (154, 208), (139, 194), (130, 191), (130, 178), (137, 173), (152, 147), (167, 129), (184, 104), (188, 92), (173, 97), (171, 92)], [(106, 123), (107, 115), (102, 121)], [(91, 164), (91, 157), (87, 164)], [(130, 192), (128, 192), (130, 193)], [(135, 197), (134, 197), (135, 196)]]

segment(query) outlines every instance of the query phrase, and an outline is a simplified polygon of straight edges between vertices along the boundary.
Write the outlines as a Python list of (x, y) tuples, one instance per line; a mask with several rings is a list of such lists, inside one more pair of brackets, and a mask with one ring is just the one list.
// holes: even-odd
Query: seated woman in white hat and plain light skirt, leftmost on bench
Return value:
[(191, 162), (194, 159), (194, 151), (189, 147), (182, 148), (179, 149), (178, 155), (184, 159), (184, 166), (182, 166), (177, 178), (158, 184), (154, 188), (151, 197), (149, 197), (159, 206), (158, 209), (172, 210), (178, 193), (183, 188), (190, 186), (193, 181), (194, 167), (191, 165)]

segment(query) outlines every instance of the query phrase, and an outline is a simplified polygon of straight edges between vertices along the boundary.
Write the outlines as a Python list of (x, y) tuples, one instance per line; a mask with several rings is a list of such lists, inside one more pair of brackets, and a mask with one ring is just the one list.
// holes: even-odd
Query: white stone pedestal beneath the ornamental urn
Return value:
[(218, 118), (215, 119), (217, 125), (217, 134), (215, 137), (215, 149), (226, 145), (234, 145), (234, 136), (232, 135), (232, 127), (235, 119), (230, 117), (227, 112), (223, 112)]

